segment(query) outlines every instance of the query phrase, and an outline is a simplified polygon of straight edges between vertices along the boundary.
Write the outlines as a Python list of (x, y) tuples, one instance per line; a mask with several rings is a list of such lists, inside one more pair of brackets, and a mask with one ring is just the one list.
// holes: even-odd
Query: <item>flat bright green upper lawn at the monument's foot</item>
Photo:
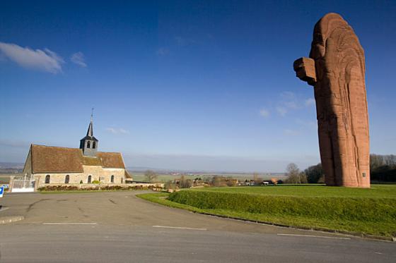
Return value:
[(310, 197), (371, 197), (396, 198), (396, 185), (371, 185), (371, 188), (338, 188), (325, 185), (240, 186), (223, 188), (193, 188), (215, 192), (239, 192), (256, 195)]

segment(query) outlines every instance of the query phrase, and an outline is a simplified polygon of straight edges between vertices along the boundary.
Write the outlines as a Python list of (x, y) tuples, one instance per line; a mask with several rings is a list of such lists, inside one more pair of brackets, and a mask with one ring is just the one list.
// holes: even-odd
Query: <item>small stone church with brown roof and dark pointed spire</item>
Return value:
[(48, 184), (125, 183), (132, 180), (120, 152), (98, 152), (93, 118), (79, 148), (30, 145), (23, 173), (37, 186)]

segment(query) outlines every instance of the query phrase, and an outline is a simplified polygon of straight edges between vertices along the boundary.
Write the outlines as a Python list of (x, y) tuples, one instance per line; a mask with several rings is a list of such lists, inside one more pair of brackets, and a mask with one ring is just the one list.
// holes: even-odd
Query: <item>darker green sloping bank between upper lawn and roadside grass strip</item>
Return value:
[(293, 197), (187, 190), (172, 193), (168, 200), (200, 209), (396, 224), (396, 200), (390, 198)]

